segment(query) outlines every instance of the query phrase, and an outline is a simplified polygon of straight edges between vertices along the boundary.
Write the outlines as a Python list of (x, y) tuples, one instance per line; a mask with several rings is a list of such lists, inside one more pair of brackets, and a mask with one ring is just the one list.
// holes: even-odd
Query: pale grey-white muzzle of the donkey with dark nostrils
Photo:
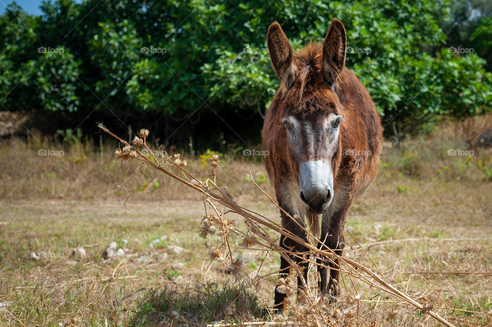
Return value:
[(323, 213), (333, 199), (333, 170), (322, 160), (306, 161), (300, 166), (299, 199), (313, 213)]

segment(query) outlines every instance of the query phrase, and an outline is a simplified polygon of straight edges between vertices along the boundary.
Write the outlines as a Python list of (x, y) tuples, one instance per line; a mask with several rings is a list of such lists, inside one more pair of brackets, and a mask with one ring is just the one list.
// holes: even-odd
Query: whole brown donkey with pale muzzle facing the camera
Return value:
[[(354, 73), (345, 68), (346, 34), (334, 18), (324, 43), (309, 43), (293, 54), (277, 22), (268, 29), (268, 50), (280, 88), (265, 117), (262, 139), (270, 180), (281, 208), (296, 216), (321, 241), (341, 254), (348, 208), (376, 178), (382, 127), (376, 107)], [(282, 225), (306, 239), (305, 232), (283, 212)], [(319, 217), (321, 216), (321, 234)], [(307, 249), (280, 237), (284, 248)], [(322, 245), (319, 245), (321, 248)], [(308, 263), (295, 259), (304, 268)], [(337, 265), (319, 268), (321, 297), (336, 300), (340, 292)], [(290, 265), (281, 258), (280, 276)], [(298, 277), (298, 287), (303, 281)], [(283, 309), (286, 295), (275, 290), (275, 309)]]

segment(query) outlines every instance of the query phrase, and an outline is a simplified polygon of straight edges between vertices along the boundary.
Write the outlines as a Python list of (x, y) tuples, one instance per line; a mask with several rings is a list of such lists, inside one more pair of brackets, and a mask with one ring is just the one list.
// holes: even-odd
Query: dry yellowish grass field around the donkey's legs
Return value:
[[(466, 147), (448, 139), (414, 139), (399, 150), (386, 144), (378, 178), (353, 205), (346, 230), (395, 287), (456, 325), (487, 325), (492, 323), (491, 151), (449, 156), (450, 149)], [(198, 235), (202, 197), (150, 168), (142, 175), (136, 164), (121, 166), (112, 157), (114, 147), (3, 141), (0, 325), (295, 320), (289, 309), (282, 317), (266, 310), (273, 305), (278, 254), (233, 244), (249, 272), (236, 280), (226, 262), (210, 261), (210, 240)], [(39, 149), (64, 152), (38, 156)], [(189, 170), (205, 178), (206, 158), (182, 152)], [(241, 205), (279, 220), (276, 207), (248, 178), (252, 172), (274, 194), (262, 164), (223, 158), (219, 184)], [(346, 241), (347, 257), (372, 265), (348, 234)], [(124, 253), (105, 259), (111, 242)], [(72, 254), (79, 247), (85, 256)], [(29, 258), (30, 252), (38, 259)], [(338, 303), (325, 304), (336, 325), (437, 325), (396, 298), (355, 284), (359, 301), (342, 292)]]

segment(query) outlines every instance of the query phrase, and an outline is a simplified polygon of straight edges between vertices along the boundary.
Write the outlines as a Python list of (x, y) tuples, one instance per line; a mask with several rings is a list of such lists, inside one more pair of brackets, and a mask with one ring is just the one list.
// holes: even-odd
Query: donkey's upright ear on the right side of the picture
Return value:
[(347, 35), (340, 20), (333, 18), (323, 43), (321, 73), (327, 82), (333, 84), (345, 66)]

